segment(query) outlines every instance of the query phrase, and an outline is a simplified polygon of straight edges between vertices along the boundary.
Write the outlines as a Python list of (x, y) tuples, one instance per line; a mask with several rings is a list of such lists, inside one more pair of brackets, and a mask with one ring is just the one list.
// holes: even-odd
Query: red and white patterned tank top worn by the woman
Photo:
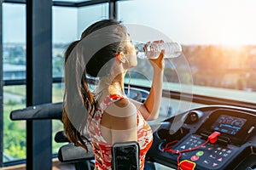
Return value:
[[(96, 156), (95, 167), (99, 170), (109, 170), (112, 169), (112, 144), (109, 144), (103, 137), (101, 133), (101, 120), (103, 112), (111, 105), (113, 102), (119, 99), (124, 99), (124, 96), (113, 94), (108, 96), (102, 101), (99, 108), (97, 109), (95, 116), (88, 116), (87, 119), (87, 130), (90, 135), (90, 141), (96, 143), (99, 148), (96, 148), (93, 144), (93, 150)], [(140, 170), (144, 168), (145, 156), (153, 142), (153, 134), (151, 127), (148, 125), (141, 115), (140, 111), (137, 110), (137, 143), (140, 145)], [(100, 160), (101, 162), (97, 161)]]

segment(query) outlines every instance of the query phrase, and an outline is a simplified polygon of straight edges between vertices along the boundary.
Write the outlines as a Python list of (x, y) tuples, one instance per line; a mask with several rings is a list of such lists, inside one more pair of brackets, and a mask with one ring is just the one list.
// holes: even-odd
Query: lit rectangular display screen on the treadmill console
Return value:
[(221, 115), (212, 124), (212, 129), (218, 132), (236, 135), (245, 122), (247, 120), (240, 117)]

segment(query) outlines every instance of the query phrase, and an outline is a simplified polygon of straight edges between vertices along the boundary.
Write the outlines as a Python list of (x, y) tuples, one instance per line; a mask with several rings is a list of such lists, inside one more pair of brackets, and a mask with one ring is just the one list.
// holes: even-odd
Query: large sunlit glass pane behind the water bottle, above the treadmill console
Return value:
[[(193, 94), (255, 103), (254, 1), (137, 0), (120, 1), (118, 8), (119, 20), (126, 26), (148, 26), (160, 32), (150, 35), (144, 29), (137, 31), (137, 37), (181, 43), (183, 54), (166, 59), (165, 88), (188, 93), (193, 88)], [(132, 30), (128, 27), (128, 31)], [(147, 62), (140, 61), (136, 71), (149, 75), (148, 81), (135, 83), (148, 84), (152, 80)]]

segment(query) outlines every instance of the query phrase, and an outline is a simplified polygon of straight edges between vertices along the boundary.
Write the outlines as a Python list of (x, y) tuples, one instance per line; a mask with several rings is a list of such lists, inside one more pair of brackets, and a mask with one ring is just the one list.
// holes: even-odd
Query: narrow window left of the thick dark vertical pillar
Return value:
[[(3, 80), (25, 78), (26, 6), (3, 3)], [(3, 88), (3, 161), (26, 158), (26, 123), (9, 119), (10, 111), (24, 107), (25, 85)]]

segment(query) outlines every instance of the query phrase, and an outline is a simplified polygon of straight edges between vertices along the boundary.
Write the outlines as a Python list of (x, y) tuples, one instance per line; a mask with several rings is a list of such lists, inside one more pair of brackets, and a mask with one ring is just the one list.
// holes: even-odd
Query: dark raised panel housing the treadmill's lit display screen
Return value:
[(212, 112), (197, 133), (207, 137), (217, 131), (221, 133), (219, 138), (223, 144), (240, 146), (247, 141), (255, 124), (255, 116), (247, 112), (219, 109)]

